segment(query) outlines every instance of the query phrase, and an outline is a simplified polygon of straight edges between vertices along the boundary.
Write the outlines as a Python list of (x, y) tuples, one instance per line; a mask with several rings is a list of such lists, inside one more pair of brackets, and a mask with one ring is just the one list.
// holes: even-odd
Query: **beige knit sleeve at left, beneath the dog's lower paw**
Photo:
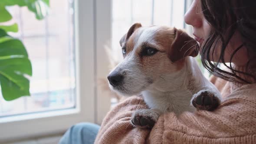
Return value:
[(104, 118), (95, 140), (95, 144), (143, 144), (150, 133), (148, 129), (133, 128), (131, 114), (145, 109), (143, 98), (126, 98), (113, 108)]

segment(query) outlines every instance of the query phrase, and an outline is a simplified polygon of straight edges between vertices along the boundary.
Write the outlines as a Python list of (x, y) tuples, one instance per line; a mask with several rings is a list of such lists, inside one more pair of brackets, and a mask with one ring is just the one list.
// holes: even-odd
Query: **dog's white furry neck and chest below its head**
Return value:
[[(194, 111), (194, 107), (190, 105), (191, 100), (201, 92), (209, 90), (220, 98), (220, 92), (203, 76), (196, 60), (187, 57), (185, 61), (181, 71), (164, 75), (165, 81), (159, 80), (141, 92), (149, 108), (180, 114), (183, 111)], [(196, 78), (193, 85), (188, 85), (191, 80), (189, 77)]]

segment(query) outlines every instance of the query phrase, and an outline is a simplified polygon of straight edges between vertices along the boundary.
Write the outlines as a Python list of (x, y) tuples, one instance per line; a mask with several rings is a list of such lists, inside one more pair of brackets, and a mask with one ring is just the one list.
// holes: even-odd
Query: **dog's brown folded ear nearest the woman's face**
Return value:
[(197, 41), (180, 29), (174, 28), (174, 41), (167, 55), (171, 62), (176, 62), (186, 56), (197, 56), (199, 46)]

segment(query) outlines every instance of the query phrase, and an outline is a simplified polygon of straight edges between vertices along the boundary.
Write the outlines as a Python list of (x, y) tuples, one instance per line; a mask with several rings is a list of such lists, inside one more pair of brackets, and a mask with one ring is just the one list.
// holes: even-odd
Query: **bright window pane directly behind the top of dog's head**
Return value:
[[(134, 23), (142, 26), (166, 25), (184, 29), (187, 0), (112, 0), (112, 48), (120, 49), (119, 40)], [(121, 51), (115, 50), (119, 59)]]

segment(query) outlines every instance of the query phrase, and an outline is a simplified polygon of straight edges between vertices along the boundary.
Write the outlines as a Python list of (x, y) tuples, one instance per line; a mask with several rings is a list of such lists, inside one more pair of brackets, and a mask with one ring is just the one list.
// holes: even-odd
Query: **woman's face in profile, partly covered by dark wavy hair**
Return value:
[[(193, 26), (193, 35), (195, 36), (195, 39), (201, 46), (204, 39), (207, 39), (207, 37), (209, 36), (211, 26), (203, 16), (200, 0), (193, 1), (191, 7), (184, 16), (184, 21), (185, 23)], [(233, 52), (241, 44), (241, 35), (240, 33), (235, 32), (225, 49), (224, 62), (230, 62), (230, 58)], [(210, 57), (210, 60), (213, 62), (217, 62), (221, 53), (221, 44), (217, 45), (214, 49), (215, 50), (213, 53), (213, 57)], [(210, 54), (210, 56), (212, 55)], [(232, 59), (232, 62), (236, 65), (245, 65), (247, 61), (247, 51), (245, 47), (242, 47), (240, 50), (238, 50)]]

